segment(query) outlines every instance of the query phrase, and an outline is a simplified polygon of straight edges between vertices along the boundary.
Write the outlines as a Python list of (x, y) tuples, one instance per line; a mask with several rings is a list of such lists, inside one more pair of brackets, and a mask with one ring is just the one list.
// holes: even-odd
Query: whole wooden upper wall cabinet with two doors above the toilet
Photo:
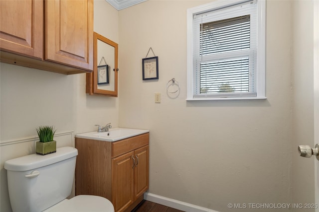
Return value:
[(1, 62), (93, 71), (93, 0), (0, 0), (0, 8)]

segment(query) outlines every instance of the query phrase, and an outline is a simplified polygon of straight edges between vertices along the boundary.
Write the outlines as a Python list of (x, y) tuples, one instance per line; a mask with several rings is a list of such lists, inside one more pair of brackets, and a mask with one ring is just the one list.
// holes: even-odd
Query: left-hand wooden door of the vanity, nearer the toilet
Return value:
[(112, 203), (123, 212), (134, 202), (134, 151), (112, 159)]

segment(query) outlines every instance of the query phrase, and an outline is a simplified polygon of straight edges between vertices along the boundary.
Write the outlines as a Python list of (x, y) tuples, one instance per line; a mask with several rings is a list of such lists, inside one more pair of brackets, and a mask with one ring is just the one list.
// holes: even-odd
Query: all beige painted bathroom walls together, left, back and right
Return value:
[[(0, 64), (1, 212), (10, 212), (3, 163), (34, 152), (29, 138), (43, 124), (55, 125), (59, 145), (73, 145), (74, 135), (95, 130), (94, 124), (150, 129), (149, 192), (156, 195), (218, 212), (243, 211), (228, 203), (314, 202), (313, 174), (300, 172), (313, 173), (313, 160), (296, 150), (313, 145), (311, 25), (304, 24), (311, 6), (267, 1), (267, 100), (187, 102), (186, 9), (207, 2), (148, 0), (118, 12), (94, 1), (94, 30), (119, 43), (119, 98), (86, 95), (85, 74)], [(159, 56), (160, 78), (143, 81), (150, 47)], [(172, 77), (180, 83), (175, 95), (166, 92)], [(38, 100), (45, 93), (49, 104)]]

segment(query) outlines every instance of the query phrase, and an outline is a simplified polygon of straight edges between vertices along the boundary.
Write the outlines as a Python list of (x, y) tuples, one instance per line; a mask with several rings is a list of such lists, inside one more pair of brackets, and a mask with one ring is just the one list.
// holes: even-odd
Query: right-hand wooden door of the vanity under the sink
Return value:
[(137, 199), (149, 188), (149, 145), (135, 150), (134, 198)]

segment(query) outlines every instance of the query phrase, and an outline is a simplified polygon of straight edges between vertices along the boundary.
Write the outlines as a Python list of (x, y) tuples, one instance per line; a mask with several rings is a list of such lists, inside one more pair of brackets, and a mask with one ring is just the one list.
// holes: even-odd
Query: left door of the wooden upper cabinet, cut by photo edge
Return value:
[(43, 58), (43, 1), (0, 0), (0, 47)]

